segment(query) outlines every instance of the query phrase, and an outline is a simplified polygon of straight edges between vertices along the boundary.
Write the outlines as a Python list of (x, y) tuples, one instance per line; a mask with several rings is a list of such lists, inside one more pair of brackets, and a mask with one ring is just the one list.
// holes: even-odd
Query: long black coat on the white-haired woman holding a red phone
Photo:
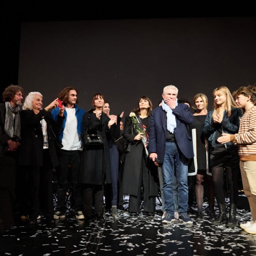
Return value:
[(33, 110), (23, 110), (20, 112), (21, 149), (18, 160), (19, 165), (43, 165), (43, 132), (40, 122), (42, 119), (45, 119), (47, 123), (49, 153), (52, 164), (53, 166), (59, 164), (50, 125), (57, 134), (57, 130), (61, 128), (61, 124), (53, 120), (51, 113), (42, 109), (37, 115)]

